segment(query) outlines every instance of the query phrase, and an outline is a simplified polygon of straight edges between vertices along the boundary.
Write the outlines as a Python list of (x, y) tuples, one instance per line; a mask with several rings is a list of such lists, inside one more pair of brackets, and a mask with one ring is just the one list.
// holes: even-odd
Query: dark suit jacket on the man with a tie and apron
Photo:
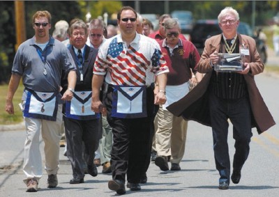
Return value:
[[(91, 84), (92, 84), (92, 77), (93, 77), (93, 65), (96, 60), (96, 56), (98, 54), (98, 49), (93, 49), (92, 47), (89, 47), (88, 45), (85, 45), (84, 48), (84, 65), (83, 65), (83, 81), (80, 81), (80, 70), (78, 68), (77, 64), (77, 56), (75, 54), (75, 50), (73, 49), (73, 45), (69, 45), (68, 47), (70, 54), (73, 56), (73, 59), (75, 61), (75, 66), (77, 70), (75, 71), (77, 73), (77, 84), (75, 85), (75, 90), (92, 90)], [(68, 73), (62, 74), (62, 80), (61, 80), (61, 86), (63, 90), (61, 91), (62, 95), (68, 88), (68, 81), (67, 81)]]

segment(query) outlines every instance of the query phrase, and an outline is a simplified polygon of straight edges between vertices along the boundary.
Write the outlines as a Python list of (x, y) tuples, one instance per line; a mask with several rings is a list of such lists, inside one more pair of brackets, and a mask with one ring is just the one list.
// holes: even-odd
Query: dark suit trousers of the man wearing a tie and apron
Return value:
[(74, 120), (63, 116), (67, 140), (67, 157), (73, 169), (74, 178), (84, 178), (84, 160), (93, 166), (95, 151), (101, 138), (100, 118)]

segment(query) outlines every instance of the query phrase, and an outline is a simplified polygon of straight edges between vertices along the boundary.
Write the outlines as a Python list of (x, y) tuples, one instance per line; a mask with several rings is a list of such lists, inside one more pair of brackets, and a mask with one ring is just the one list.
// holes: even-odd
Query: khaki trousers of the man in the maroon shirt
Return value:
[(171, 156), (171, 163), (179, 164), (185, 151), (188, 121), (181, 116), (174, 116), (160, 106), (154, 126), (157, 155)]

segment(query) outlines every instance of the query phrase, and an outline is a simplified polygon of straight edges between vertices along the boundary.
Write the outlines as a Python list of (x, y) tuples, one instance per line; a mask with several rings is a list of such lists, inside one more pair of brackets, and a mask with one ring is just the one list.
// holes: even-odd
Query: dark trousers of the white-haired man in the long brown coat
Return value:
[(219, 182), (229, 182), (230, 161), (227, 144), (228, 118), (233, 125), (234, 170), (241, 170), (249, 155), (251, 132), (251, 111), (248, 97), (236, 100), (224, 100), (211, 93), (209, 109), (213, 132), (213, 150), (216, 169), (219, 171)]

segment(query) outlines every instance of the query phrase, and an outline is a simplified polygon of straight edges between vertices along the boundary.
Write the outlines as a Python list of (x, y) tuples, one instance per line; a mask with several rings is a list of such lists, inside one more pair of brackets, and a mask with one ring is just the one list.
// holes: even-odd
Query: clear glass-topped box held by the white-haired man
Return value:
[(243, 70), (243, 54), (218, 54), (219, 61), (214, 65), (217, 72), (236, 72)]

